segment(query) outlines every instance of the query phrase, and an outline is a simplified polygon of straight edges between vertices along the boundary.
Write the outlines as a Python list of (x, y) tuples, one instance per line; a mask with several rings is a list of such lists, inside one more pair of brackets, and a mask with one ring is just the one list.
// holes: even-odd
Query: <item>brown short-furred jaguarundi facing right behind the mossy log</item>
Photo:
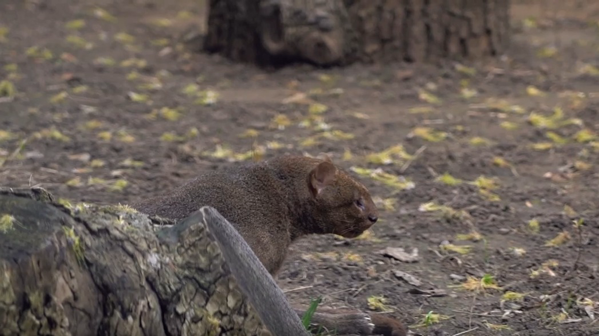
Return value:
[(368, 189), (327, 156), (283, 155), (217, 170), (132, 206), (176, 221), (202, 206), (214, 207), (271, 274), (280, 270), (289, 245), (300, 237), (328, 233), (356, 237), (378, 217)]

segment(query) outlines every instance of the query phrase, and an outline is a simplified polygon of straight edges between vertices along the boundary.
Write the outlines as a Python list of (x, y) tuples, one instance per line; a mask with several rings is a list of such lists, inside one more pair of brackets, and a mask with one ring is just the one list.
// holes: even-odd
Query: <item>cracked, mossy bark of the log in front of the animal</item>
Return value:
[(166, 222), (1, 188), (0, 335), (269, 335), (204, 224)]

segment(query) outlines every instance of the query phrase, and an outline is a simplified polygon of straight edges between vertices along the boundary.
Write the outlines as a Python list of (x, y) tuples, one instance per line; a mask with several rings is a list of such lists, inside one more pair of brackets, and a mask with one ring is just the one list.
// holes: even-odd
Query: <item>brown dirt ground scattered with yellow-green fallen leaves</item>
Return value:
[(381, 219), (295, 245), (292, 300), (417, 335), (597, 335), (599, 5), (540, 2), (513, 5), (494, 62), (266, 72), (181, 42), (198, 2), (3, 0), (0, 185), (128, 203), (252, 155), (329, 152)]

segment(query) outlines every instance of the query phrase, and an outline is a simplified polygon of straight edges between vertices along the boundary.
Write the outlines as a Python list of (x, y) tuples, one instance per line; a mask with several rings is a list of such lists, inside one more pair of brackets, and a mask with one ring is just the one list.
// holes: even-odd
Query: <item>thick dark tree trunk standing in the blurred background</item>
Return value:
[(422, 62), (506, 50), (510, 0), (210, 0), (204, 49), (238, 62)]

